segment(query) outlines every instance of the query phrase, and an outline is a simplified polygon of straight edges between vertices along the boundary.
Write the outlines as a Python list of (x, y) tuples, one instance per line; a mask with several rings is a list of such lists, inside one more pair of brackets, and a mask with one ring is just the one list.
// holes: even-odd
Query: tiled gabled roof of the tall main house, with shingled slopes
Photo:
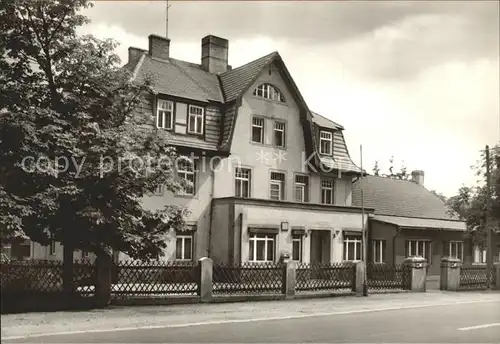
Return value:
[(199, 64), (173, 58), (167, 60), (154, 58), (145, 50), (143, 50), (142, 54), (137, 54), (129, 61), (125, 68), (133, 72), (134, 78), (138, 81), (144, 80), (150, 75), (153, 76), (155, 78), (153, 91), (157, 94), (205, 103), (224, 104), (225, 106), (221, 107), (222, 116), (219, 116), (220, 118), (212, 116), (206, 124), (207, 128), (210, 126), (213, 129), (211, 136), (215, 137), (214, 142), (204, 143), (203, 140), (191, 142), (185, 135), (175, 133), (171, 135), (172, 142), (175, 141), (178, 145), (196, 145), (201, 149), (229, 152), (237, 117), (237, 109), (234, 106), (235, 101), (248, 90), (263, 69), (271, 63), (276, 64), (281, 76), (289, 85), (295, 101), (301, 108), (301, 123), (304, 130), (307, 154), (314, 153), (315, 147), (317, 147), (314, 135), (315, 125), (334, 129), (336, 130), (334, 135), (334, 157), (325, 158), (325, 161), (320, 161), (318, 157), (315, 157), (315, 163), (318, 166), (323, 163), (325, 166), (333, 166), (344, 171), (359, 172), (360, 169), (349, 157), (341, 133), (344, 128), (338, 123), (309, 110), (285, 63), (276, 51), (218, 75), (205, 71)]

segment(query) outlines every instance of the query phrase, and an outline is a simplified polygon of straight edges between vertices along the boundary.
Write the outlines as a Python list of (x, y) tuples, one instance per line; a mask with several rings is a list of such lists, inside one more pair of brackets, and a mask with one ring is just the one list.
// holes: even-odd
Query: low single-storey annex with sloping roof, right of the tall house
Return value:
[[(364, 204), (375, 208), (368, 225), (372, 262), (401, 264), (406, 257), (423, 256), (430, 276), (439, 276), (444, 256), (485, 264), (486, 251), (472, 244), (465, 222), (449, 215), (443, 201), (424, 187), (423, 171), (413, 171), (409, 181), (367, 176), (362, 183)], [(359, 180), (353, 204), (361, 205)], [(498, 250), (494, 254), (498, 260)]]

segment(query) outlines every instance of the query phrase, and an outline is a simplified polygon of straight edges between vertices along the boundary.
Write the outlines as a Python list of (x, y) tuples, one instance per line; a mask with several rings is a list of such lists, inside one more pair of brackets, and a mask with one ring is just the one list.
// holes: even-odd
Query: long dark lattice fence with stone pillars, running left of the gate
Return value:
[[(7, 308), (17, 311), (44, 311), (100, 307), (109, 303), (157, 304), (158, 300), (165, 301), (162, 303), (211, 302), (214, 296), (219, 301), (234, 300), (230, 296), (238, 294), (241, 300), (295, 297), (301, 293), (310, 297), (310, 293), (319, 291), (363, 294), (363, 275), (358, 275), (364, 271), (362, 262), (213, 264), (211, 259), (202, 258), (198, 262), (109, 263), (103, 260), (98, 267), (89, 261), (75, 262), (75, 288), (70, 293), (63, 290), (60, 261), (2, 264), (2, 311), (6, 303)], [(411, 269), (411, 266), (369, 265), (368, 285), (371, 289), (412, 289)], [(420, 271), (425, 275), (425, 270)], [(80, 303), (64, 304), (68, 295)], [(76, 307), (76, 304), (83, 306)]]

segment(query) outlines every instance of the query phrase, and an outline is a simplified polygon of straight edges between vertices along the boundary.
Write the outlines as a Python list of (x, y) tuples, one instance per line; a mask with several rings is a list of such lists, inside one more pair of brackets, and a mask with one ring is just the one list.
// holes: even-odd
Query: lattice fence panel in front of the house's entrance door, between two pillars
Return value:
[(354, 290), (356, 265), (351, 262), (331, 264), (299, 263), (296, 269), (295, 290)]

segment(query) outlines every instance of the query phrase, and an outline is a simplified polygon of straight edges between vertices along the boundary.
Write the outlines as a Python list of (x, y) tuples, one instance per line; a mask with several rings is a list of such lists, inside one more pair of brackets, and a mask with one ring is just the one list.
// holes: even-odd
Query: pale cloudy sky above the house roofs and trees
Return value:
[[(229, 40), (233, 68), (278, 51), (309, 108), (345, 127), (355, 163), (425, 172), (452, 196), (500, 142), (497, 1), (169, 1), (170, 56), (200, 63), (201, 39)], [(164, 1), (96, 1), (80, 31), (147, 49)]]

